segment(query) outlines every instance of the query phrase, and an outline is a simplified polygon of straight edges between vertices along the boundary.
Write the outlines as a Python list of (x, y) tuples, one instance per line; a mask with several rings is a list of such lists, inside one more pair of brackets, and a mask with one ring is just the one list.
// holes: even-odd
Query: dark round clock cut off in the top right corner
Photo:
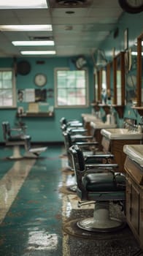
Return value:
[(120, 7), (129, 13), (139, 13), (143, 11), (142, 0), (118, 0)]

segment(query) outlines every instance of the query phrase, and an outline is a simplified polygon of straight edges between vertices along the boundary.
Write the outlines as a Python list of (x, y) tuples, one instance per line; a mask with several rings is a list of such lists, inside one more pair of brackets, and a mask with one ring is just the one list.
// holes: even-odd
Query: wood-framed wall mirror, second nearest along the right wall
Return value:
[(125, 105), (125, 53), (120, 52), (113, 59), (113, 82), (114, 82), (114, 99), (113, 104)]

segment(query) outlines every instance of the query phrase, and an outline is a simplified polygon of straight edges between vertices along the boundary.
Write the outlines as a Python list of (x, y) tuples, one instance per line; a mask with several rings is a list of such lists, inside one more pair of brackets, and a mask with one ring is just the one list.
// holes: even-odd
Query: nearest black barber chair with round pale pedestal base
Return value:
[(125, 203), (125, 176), (117, 173), (117, 166), (102, 166), (90, 168), (85, 166), (82, 150), (71, 146), (69, 152), (72, 157), (74, 172), (77, 179), (77, 196), (79, 206), (95, 203), (93, 217), (81, 219), (77, 226), (82, 230), (93, 232), (111, 232), (125, 226), (125, 222), (110, 217), (110, 202), (118, 203), (124, 208)]

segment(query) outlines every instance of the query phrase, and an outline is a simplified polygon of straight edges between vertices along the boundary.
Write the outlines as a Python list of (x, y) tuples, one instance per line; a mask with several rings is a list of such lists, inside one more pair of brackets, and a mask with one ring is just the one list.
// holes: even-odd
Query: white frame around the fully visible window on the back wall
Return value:
[(57, 71), (59, 70), (66, 70), (70, 71), (69, 68), (63, 67), (63, 68), (55, 68), (54, 69), (54, 81), (55, 81), (55, 108), (88, 108), (89, 106), (89, 83), (88, 83), (88, 69), (84, 68), (85, 70), (85, 85), (86, 85), (86, 91), (85, 91), (85, 105), (58, 105), (58, 90), (57, 90)]

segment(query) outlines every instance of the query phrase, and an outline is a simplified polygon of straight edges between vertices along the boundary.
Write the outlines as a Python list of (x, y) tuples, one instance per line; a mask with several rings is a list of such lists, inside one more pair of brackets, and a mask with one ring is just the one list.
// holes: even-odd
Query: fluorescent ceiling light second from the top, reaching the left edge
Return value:
[(1, 25), (1, 31), (52, 31), (52, 25)]

